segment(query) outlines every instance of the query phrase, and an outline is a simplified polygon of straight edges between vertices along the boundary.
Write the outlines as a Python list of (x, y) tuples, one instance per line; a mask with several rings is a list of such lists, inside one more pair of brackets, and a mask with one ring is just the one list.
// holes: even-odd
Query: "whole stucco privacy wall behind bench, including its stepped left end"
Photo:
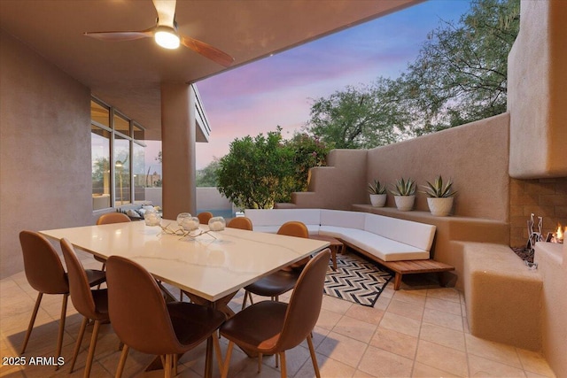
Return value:
[[(501, 114), (461, 127), (378, 147), (373, 150), (332, 150), (329, 166), (311, 171), (309, 192), (295, 193), (297, 207), (350, 210), (369, 204), (368, 182), (390, 184), (411, 177), (418, 185), (438, 174), (454, 181), (454, 214), (486, 220), (509, 220), (509, 115)], [(395, 206), (392, 195), (386, 206)], [(423, 193), (416, 210), (427, 210)]]

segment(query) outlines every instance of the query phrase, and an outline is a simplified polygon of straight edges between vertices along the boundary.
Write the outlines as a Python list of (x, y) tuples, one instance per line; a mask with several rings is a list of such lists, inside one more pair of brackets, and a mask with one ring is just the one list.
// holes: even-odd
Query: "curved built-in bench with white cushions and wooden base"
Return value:
[[(436, 227), (368, 212), (329, 209), (246, 209), (254, 231), (277, 232), (283, 223), (299, 220), (312, 235), (339, 239), (395, 273), (394, 289), (403, 274), (446, 272), (453, 266), (430, 258)], [(408, 261), (421, 261), (410, 264)]]

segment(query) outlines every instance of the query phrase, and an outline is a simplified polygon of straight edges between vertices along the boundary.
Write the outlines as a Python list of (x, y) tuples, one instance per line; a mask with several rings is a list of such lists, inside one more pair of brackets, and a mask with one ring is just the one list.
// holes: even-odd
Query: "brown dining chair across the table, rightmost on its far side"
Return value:
[[(307, 226), (299, 221), (289, 221), (277, 230), (278, 235), (288, 235), (296, 237), (309, 237)], [(286, 266), (278, 270), (276, 273), (269, 274), (266, 277), (260, 278), (256, 282), (252, 282), (245, 287), (245, 297), (242, 301), (242, 308), (246, 306), (246, 301), (249, 298), (252, 304), (252, 294), (260, 297), (271, 297), (272, 300), (278, 300), (279, 296), (293, 289), (295, 282), (298, 281), (301, 269), (307, 264), (309, 258), (303, 258), (291, 266)]]

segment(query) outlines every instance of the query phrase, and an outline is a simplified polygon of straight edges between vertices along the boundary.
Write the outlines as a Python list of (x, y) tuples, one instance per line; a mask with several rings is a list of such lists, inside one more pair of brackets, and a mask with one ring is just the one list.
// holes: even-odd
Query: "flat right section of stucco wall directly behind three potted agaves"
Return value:
[[(509, 115), (501, 114), (369, 150), (367, 181), (390, 184), (403, 176), (419, 186), (441, 174), (445, 180), (452, 178), (458, 191), (454, 215), (508, 221), (508, 127)], [(386, 205), (395, 206), (392, 195)], [(428, 211), (425, 194), (416, 193), (414, 209)]]

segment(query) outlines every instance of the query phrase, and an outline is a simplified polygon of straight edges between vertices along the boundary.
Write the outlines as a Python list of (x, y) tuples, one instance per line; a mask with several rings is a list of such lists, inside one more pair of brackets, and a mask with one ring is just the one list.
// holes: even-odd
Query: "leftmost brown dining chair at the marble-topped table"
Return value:
[[(57, 341), (57, 351), (55, 357), (61, 355), (63, 345), (63, 334), (65, 330), (67, 299), (69, 296), (69, 282), (67, 274), (63, 269), (61, 259), (57, 251), (53, 248), (47, 238), (34, 231), (21, 231), (19, 233), (19, 243), (24, 257), (24, 270), (27, 282), (38, 291), (35, 300), (34, 312), (27, 326), (24, 343), (20, 354), (26, 352), (27, 342), (34, 329), (35, 317), (42, 302), (43, 294), (62, 294), (63, 303), (61, 305), (61, 317), (59, 320), (59, 332)], [(86, 270), (89, 286), (95, 286), (106, 281), (105, 272), (99, 270)], [(56, 370), (58, 366), (56, 366)]]

